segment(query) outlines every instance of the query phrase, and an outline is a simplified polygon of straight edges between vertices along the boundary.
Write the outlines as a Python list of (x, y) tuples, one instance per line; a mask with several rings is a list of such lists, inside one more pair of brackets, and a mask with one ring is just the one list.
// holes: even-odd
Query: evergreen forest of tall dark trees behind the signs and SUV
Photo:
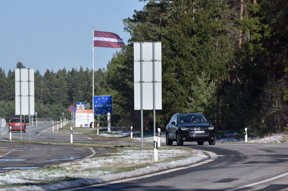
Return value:
[[(145, 0), (139, 0), (145, 1)], [(94, 95), (113, 96), (112, 126), (140, 129), (134, 110), (133, 42), (162, 42), (165, 130), (174, 113), (201, 112), (217, 130), (258, 135), (288, 131), (288, 1), (150, 0), (123, 19), (128, 44), (94, 71)], [(16, 68), (25, 68), (19, 60)], [(2, 63), (5, 64), (5, 63)], [(71, 117), (69, 105), (92, 102), (92, 70), (35, 71), (38, 117)], [(73, 80), (72, 80), (73, 79)], [(0, 117), (15, 116), (15, 73), (0, 68)], [(144, 128), (153, 129), (153, 110)], [(106, 117), (101, 117), (105, 126)]]

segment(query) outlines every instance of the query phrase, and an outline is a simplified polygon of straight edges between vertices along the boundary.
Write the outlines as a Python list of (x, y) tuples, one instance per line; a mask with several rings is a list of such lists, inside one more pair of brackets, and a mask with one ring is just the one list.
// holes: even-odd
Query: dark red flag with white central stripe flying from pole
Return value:
[(94, 31), (94, 47), (120, 48), (124, 46), (123, 40), (111, 32)]

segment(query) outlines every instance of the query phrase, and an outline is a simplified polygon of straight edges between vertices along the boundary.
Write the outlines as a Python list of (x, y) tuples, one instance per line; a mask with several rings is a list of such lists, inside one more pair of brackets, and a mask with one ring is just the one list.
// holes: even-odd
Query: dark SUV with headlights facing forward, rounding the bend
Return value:
[(174, 114), (166, 125), (166, 145), (183, 145), (184, 141), (197, 141), (203, 145), (208, 141), (209, 145), (215, 145), (215, 129), (201, 113)]

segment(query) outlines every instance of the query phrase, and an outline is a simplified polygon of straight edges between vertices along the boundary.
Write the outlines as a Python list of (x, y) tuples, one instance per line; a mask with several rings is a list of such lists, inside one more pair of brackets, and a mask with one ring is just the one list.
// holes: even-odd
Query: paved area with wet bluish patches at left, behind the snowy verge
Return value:
[(87, 147), (0, 142), (0, 172), (38, 168), (95, 154), (94, 149)]

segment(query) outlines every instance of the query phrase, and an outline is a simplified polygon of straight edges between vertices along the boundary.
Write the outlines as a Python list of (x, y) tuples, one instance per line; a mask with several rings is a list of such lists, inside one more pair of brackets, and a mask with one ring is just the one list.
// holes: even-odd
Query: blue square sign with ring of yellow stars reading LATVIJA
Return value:
[(112, 96), (93, 96), (94, 115), (113, 114)]

